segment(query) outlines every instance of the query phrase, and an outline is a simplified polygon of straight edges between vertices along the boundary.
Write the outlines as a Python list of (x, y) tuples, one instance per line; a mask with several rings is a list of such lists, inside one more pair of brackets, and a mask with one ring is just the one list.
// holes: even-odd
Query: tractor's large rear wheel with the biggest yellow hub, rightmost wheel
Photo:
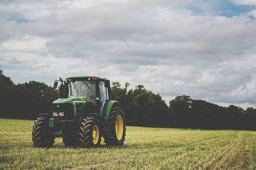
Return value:
[(111, 109), (109, 115), (109, 127), (112, 133), (113, 139), (108, 138), (108, 136), (104, 135), (104, 142), (108, 146), (122, 146), (125, 141), (125, 116), (124, 111), (119, 106), (114, 106)]

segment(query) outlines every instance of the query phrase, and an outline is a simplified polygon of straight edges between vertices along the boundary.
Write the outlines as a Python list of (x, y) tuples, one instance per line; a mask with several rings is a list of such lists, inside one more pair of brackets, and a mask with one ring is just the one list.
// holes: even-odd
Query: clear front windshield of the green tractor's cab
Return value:
[(70, 81), (68, 97), (84, 98), (86, 101), (95, 101), (95, 81)]

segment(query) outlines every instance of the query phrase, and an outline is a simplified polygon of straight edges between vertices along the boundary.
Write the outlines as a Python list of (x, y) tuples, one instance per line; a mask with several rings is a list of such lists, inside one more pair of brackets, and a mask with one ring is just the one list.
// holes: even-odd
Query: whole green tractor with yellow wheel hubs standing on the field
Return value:
[(35, 147), (52, 147), (54, 138), (65, 146), (99, 147), (101, 137), (108, 146), (122, 146), (125, 116), (112, 101), (110, 82), (97, 76), (71, 76), (54, 81), (60, 99), (53, 101), (52, 113), (42, 113), (32, 129)]

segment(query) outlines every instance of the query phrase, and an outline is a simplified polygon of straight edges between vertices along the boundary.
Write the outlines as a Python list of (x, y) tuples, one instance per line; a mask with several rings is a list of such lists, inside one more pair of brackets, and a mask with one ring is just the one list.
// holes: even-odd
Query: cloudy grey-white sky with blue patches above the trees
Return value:
[(1, 0), (0, 66), (15, 83), (93, 74), (256, 106), (256, 0)]

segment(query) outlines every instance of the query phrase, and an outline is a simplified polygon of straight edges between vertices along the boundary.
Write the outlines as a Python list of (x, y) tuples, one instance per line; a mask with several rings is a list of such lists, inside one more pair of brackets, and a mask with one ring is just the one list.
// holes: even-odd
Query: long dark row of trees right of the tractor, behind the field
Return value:
[(244, 129), (256, 130), (256, 109), (230, 105), (218, 106), (204, 100), (177, 96), (169, 106), (159, 96), (143, 85), (127, 90), (114, 82), (113, 98), (120, 101), (127, 124), (150, 127), (180, 127), (196, 129)]

